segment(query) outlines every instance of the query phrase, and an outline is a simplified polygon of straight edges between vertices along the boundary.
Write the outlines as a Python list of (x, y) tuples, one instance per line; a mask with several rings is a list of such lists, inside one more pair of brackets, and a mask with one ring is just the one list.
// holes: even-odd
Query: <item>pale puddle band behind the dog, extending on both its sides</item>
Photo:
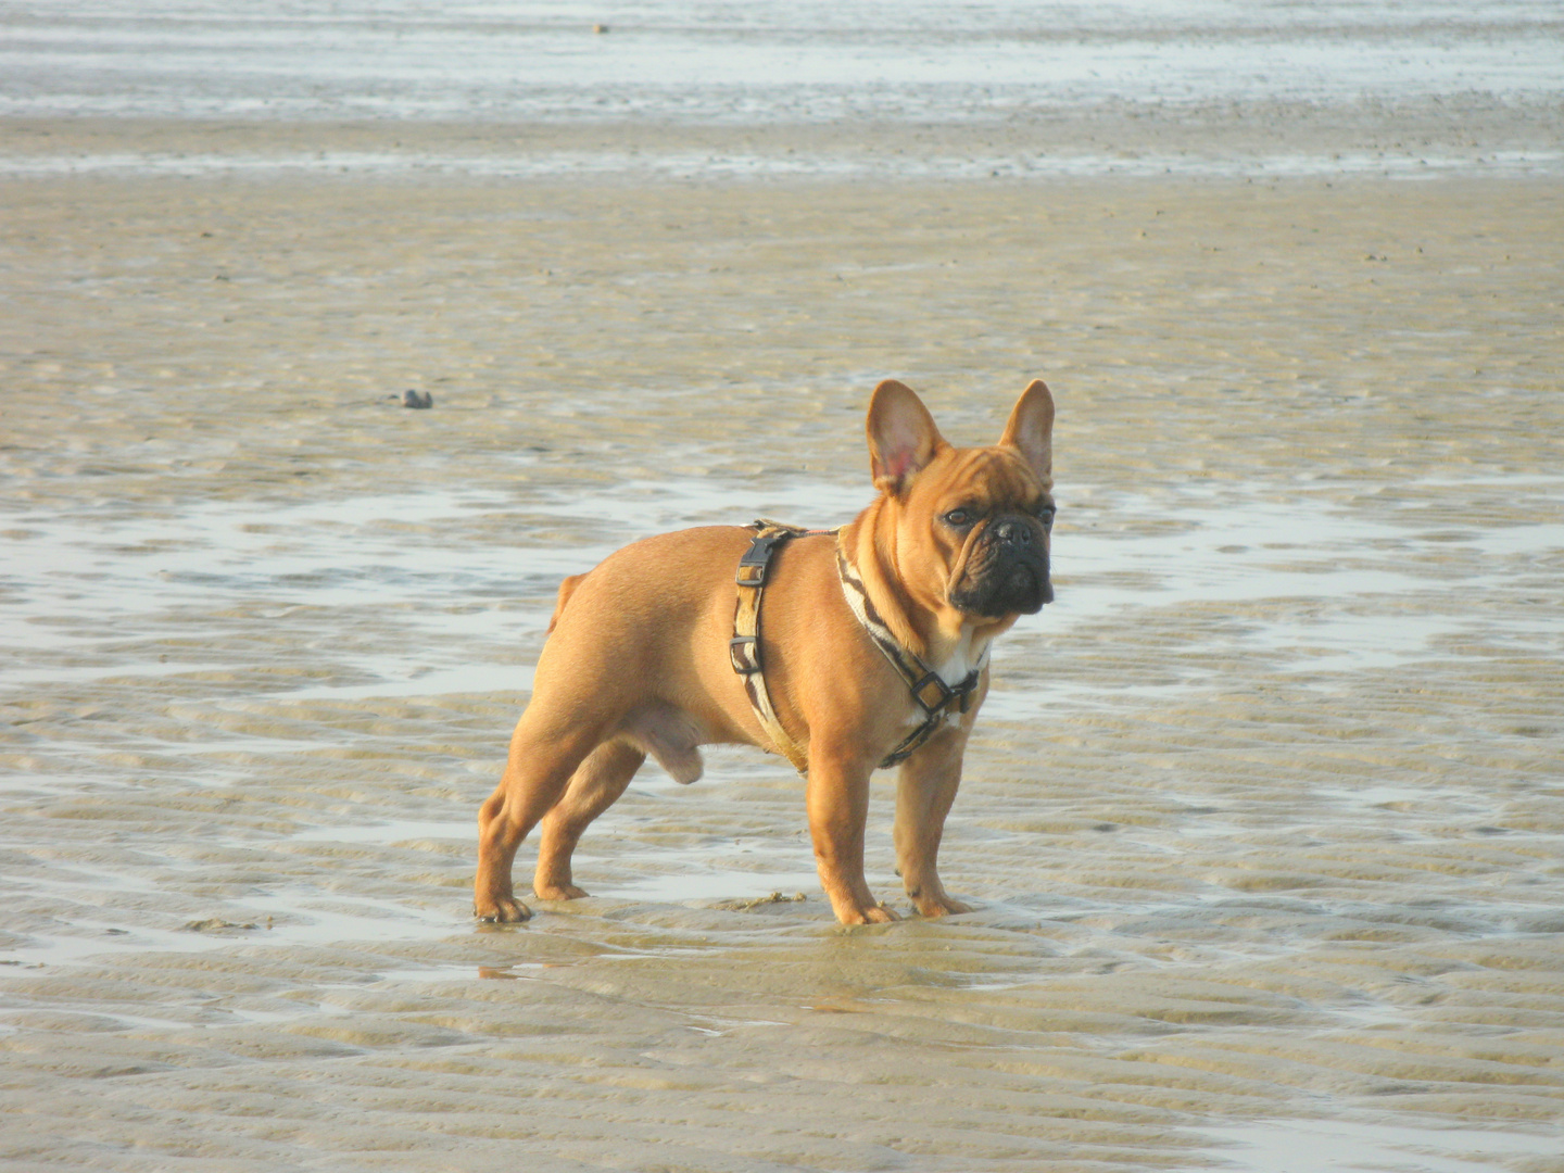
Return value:
[[(1059, 599), (1042, 616), (1023, 618), (1020, 635), (1062, 637), (1126, 608), (1228, 604), (1242, 627), (1215, 638), (1309, 673), (1415, 662), (1478, 624), (1536, 638), (1541, 626), (1475, 615), (1450, 593), (1500, 586), (1514, 565), (1564, 546), (1559, 526), (1462, 530), (1451, 540), (1395, 511), (1370, 518), (1308, 500), (1279, 505), (1257, 491), (1245, 500), (1242, 486), (1220, 499), (1200, 491), (1134, 497), (1090, 485), (1064, 486), (1060, 496)], [(399, 630), (397, 646), (360, 649), (363, 640), (343, 640), (328, 679), (319, 671), (296, 682), (275, 676), (266, 691), (299, 702), (526, 691), (530, 665), (518, 663), (518, 652), (536, 646), (558, 580), (622, 541), (751, 516), (832, 526), (865, 499), (859, 488), (801, 482), (769, 485), (735, 505), (734, 488), (715, 479), (633, 482), (615, 497), (612, 538), (597, 536), (604, 504), (574, 493), (526, 502), (441, 493), (286, 507), (221, 502), (185, 507), (177, 521), (0, 513), (0, 524), (22, 535), (8, 540), (13, 560), (0, 579), (0, 644), (17, 652), (0, 668), (0, 688), (242, 671), (231, 655), (196, 652), (191, 637), (239, 616), (258, 632), (310, 630), (336, 610), (360, 627)], [(1173, 524), (1134, 529), (1146, 518)], [(529, 538), (540, 519), (555, 529), (576, 524), (580, 538)], [(1431, 593), (1448, 604), (1387, 607)], [(1267, 607), (1256, 612), (1259, 604)], [(133, 618), (141, 646), (155, 655), (127, 646)], [(995, 654), (1003, 666), (1007, 644)], [(510, 662), (494, 663), (497, 655)], [(992, 704), (1013, 718), (1031, 712), (1004, 693), (1003, 673)]]

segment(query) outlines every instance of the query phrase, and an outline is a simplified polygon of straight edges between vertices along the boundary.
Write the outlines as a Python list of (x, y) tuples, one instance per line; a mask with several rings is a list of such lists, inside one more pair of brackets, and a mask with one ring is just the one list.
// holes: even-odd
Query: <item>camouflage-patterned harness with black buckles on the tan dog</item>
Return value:
[[(766, 730), (777, 751), (793, 763), (793, 768), (807, 774), (809, 752), (782, 727), (782, 721), (777, 719), (776, 708), (771, 705), (771, 694), (766, 691), (765, 665), (760, 662), (760, 596), (771, 572), (771, 558), (780, 546), (793, 538), (834, 536), (837, 530), (804, 530), (765, 518), (755, 521), (751, 529), (755, 530), (755, 536), (738, 560), (738, 574), (735, 576), (738, 602), (734, 608), (734, 638), (729, 640), (727, 652), (734, 662), (734, 671), (744, 680), (744, 691), (749, 694), (749, 704), (755, 710), (762, 729)], [(896, 669), (896, 674), (907, 682), (913, 702), (923, 710), (923, 721), (918, 727), (879, 763), (881, 769), (887, 769), (912, 757), (913, 751), (934, 737), (948, 716), (952, 716), (952, 710), (965, 713), (971, 708), (973, 693), (978, 691), (982, 671), (988, 665), (988, 649), (984, 647), (978, 666), (960, 683), (948, 685), (921, 657), (902, 647), (901, 641), (896, 640), (879, 612), (874, 610), (857, 569), (840, 549), (837, 549), (837, 576), (841, 579), (841, 593), (859, 624), (890, 662), (890, 666)]]

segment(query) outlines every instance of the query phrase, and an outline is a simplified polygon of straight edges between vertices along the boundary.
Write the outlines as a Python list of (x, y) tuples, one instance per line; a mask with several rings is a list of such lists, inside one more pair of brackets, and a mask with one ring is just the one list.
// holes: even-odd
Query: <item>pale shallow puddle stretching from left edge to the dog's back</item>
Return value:
[[(530, 688), (530, 665), (496, 665), (507, 649), (536, 643), (560, 579), (590, 569), (635, 536), (694, 524), (746, 524), (754, 516), (838, 524), (863, 493), (830, 486), (769, 486), (735, 507), (721, 482), (632, 483), (613, 502), (544, 491), (526, 500), (494, 494), (391, 494), (269, 505), (206, 502), (113, 518), (38, 516), (0, 510), (11, 549), (0, 576), (0, 690), (39, 680), (116, 680), (233, 673), (242, 660), (196, 649), (192, 637), (247, 621), (258, 635), (313, 629), (328, 613), (402, 632), (399, 646), (339, 641), (332, 676), (264, 691), (291, 701), (436, 696)], [(540, 543), (547, 526), (576, 540)], [(109, 622), (113, 616), (113, 622)], [(135, 621), (152, 658), (138, 658), (124, 632)], [(341, 621), (339, 621), (341, 622)], [(308, 638), (308, 637), (307, 637)], [(219, 641), (213, 641), (217, 644)], [(219, 644), (221, 646), (221, 644)], [(441, 662), (455, 649), (471, 657)], [(515, 658), (513, 655), (507, 658)], [(253, 691), (253, 690), (252, 690)]]

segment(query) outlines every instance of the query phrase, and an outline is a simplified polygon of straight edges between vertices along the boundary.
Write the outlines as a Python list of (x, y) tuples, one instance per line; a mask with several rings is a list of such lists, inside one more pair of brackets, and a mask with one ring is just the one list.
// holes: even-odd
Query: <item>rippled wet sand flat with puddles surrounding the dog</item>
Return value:
[[(0, 206), (13, 1167), (1564, 1170), (1556, 181)], [(716, 751), (593, 827), (591, 899), (471, 924), (558, 579), (851, 516), (887, 375), (967, 443), (1059, 400), (979, 910), (840, 929), (798, 779)]]

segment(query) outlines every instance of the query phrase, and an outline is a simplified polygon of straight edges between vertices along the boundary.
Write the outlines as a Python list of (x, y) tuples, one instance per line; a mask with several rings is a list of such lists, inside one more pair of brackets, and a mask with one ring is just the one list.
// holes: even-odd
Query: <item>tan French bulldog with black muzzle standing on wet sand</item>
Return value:
[(735, 612), (757, 586), (740, 569), (754, 527), (644, 538), (566, 579), (479, 813), (474, 915), (532, 915), (511, 865), (535, 826), (536, 896), (585, 896), (571, 873), (582, 832), (647, 755), (694, 782), (699, 746), (713, 743), (782, 752), (804, 774), (820, 882), (843, 924), (896, 920), (863, 879), (863, 827), (870, 774), (898, 763), (907, 896), (923, 917), (970, 912), (940, 882), (940, 837), (988, 690), (988, 646), (1053, 601), (1053, 422), (1035, 380), (996, 444), (954, 447), (910, 388), (881, 383), (866, 421), (877, 494), (840, 530), (774, 544), (744, 663)]

